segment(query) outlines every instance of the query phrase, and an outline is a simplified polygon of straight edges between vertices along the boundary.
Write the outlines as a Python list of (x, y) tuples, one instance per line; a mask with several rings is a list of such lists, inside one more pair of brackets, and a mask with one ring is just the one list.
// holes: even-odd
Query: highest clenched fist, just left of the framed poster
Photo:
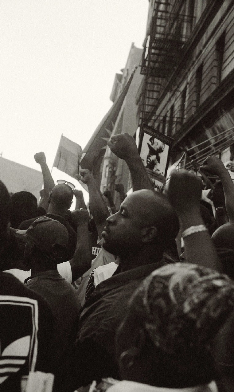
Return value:
[(107, 145), (118, 158), (126, 160), (138, 156), (136, 142), (128, 133), (112, 136)]

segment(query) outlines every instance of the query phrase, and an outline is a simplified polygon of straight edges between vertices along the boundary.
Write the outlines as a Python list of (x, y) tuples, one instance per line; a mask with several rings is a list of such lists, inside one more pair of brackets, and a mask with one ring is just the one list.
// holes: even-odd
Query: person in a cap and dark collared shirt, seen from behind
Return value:
[(55, 358), (59, 361), (81, 308), (76, 290), (57, 270), (63, 261), (68, 232), (60, 222), (42, 216), (31, 224), (26, 237), (25, 261), (31, 267), (31, 277), (25, 279), (25, 285), (47, 299), (52, 309)]

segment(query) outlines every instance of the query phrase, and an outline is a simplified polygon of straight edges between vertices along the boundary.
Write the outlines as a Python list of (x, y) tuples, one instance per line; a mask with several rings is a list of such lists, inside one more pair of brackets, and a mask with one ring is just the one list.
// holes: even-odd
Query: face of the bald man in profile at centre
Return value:
[(107, 218), (106, 227), (102, 232), (104, 249), (117, 256), (139, 249), (141, 229), (147, 224), (140, 211), (142, 208), (139, 196), (127, 196), (120, 206), (120, 211)]

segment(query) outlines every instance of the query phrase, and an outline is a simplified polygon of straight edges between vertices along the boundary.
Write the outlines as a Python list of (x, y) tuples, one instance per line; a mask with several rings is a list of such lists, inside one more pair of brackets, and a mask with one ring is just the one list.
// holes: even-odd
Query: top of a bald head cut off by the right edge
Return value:
[(212, 242), (216, 248), (234, 250), (234, 223), (225, 223), (212, 234)]

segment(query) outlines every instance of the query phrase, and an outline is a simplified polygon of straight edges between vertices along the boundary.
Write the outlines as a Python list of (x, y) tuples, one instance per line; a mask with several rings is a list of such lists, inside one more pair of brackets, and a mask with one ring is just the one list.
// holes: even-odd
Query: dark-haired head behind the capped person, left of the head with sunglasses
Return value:
[(37, 200), (31, 192), (16, 192), (11, 196), (11, 201), (11, 227), (17, 229), (24, 220), (36, 218)]

